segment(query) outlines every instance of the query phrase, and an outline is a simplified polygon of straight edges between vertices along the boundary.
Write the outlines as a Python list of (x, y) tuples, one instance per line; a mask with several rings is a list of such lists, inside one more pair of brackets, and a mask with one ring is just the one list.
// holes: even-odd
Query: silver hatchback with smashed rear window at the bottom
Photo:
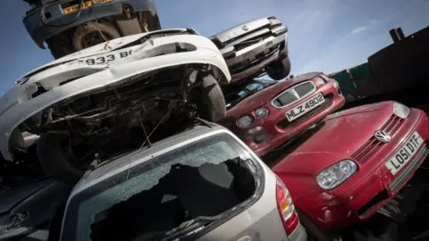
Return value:
[(282, 182), (231, 131), (204, 123), (88, 171), (61, 240), (307, 240)]

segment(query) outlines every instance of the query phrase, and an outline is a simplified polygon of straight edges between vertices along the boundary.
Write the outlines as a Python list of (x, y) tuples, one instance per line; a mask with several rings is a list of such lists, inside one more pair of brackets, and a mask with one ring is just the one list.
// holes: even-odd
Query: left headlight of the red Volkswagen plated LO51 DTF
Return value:
[(349, 179), (357, 170), (357, 165), (351, 160), (337, 162), (317, 175), (317, 183), (320, 187), (331, 190), (338, 187), (346, 179)]

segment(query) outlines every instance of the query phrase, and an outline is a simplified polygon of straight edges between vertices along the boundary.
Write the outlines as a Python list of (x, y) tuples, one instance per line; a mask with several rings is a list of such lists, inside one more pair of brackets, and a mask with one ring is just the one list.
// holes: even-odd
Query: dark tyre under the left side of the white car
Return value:
[(68, 136), (44, 134), (38, 139), (38, 162), (51, 177), (66, 184), (76, 183), (85, 172), (71, 162), (63, 151)]

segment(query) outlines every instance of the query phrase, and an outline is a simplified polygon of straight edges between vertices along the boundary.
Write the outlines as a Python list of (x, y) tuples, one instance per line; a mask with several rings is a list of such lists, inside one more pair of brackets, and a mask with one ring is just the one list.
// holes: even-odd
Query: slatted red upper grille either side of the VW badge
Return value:
[[(384, 123), (381, 130), (393, 137), (398, 129), (400, 129), (400, 126), (404, 121), (404, 119), (401, 119), (396, 115), (391, 115), (391, 118), (389, 118), (389, 120)], [(362, 145), (362, 147), (360, 147), (354, 154), (351, 155), (351, 158), (362, 164), (366, 162), (384, 144), (385, 143), (377, 140), (375, 137), (371, 137), (364, 145)]]

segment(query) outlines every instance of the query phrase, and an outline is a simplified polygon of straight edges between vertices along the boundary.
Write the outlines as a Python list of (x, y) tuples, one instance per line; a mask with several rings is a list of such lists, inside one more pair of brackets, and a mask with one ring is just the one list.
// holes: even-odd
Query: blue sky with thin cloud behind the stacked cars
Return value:
[[(429, 25), (429, 0), (155, 0), (163, 28), (204, 36), (242, 21), (275, 15), (289, 28), (292, 73), (340, 71), (391, 44), (389, 29), (408, 35)], [(27, 71), (53, 60), (22, 25), (20, 0), (0, 9), (0, 93)]]

